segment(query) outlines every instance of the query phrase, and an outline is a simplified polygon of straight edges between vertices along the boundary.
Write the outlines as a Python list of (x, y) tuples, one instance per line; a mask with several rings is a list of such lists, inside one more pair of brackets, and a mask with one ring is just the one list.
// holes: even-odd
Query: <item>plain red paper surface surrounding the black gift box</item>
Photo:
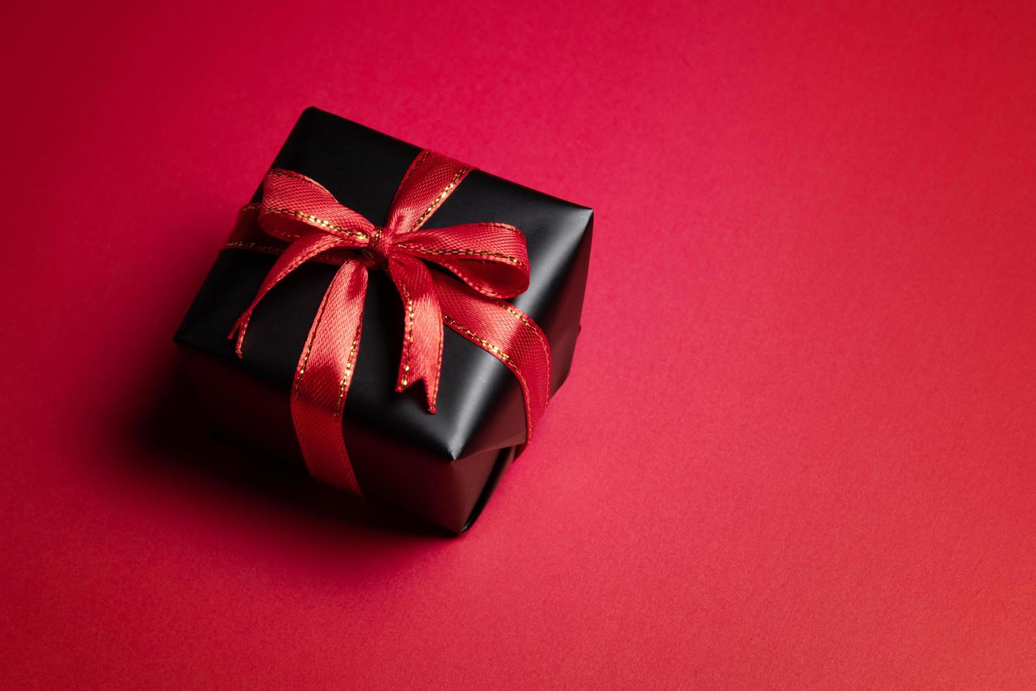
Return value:
[[(3, 686), (1036, 686), (1032, 3), (151, 4), (0, 22)], [(309, 105), (597, 210), (459, 539), (178, 367)]]

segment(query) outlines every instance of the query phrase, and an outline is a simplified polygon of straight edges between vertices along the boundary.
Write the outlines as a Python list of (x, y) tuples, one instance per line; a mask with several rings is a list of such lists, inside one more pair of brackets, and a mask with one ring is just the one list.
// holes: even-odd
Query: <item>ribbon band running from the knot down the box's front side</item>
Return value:
[(295, 369), (291, 419), (310, 473), (361, 494), (342, 437), (342, 411), (355, 369), (363, 327), (367, 267), (342, 264), (310, 327)]

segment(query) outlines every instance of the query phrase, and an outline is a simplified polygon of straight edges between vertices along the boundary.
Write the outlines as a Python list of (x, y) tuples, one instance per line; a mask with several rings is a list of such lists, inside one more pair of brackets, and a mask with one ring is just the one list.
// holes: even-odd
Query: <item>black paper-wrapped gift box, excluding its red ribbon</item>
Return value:
[[(380, 224), (419, 151), (310, 108), (271, 168), (318, 180), (342, 204)], [(261, 190), (252, 201), (260, 197)], [(547, 336), (551, 393), (568, 375), (579, 333), (593, 215), (583, 206), (474, 170), (426, 225), (492, 221), (524, 233), (531, 278), (528, 290), (510, 301)], [(275, 288), (256, 309), (238, 359), (227, 334), (274, 261), (248, 250), (220, 252), (175, 341), (218, 436), (303, 463), (289, 392), (336, 267), (307, 263)], [(429, 414), (421, 386), (395, 392), (402, 330), (395, 286), (383, 272), (371, 271), (344, 414), (346, 447), (367, 498), (460, 532), (478, 518), (524, 447), (521, 387), (499, 361), (444, 329), (437, 412)]]

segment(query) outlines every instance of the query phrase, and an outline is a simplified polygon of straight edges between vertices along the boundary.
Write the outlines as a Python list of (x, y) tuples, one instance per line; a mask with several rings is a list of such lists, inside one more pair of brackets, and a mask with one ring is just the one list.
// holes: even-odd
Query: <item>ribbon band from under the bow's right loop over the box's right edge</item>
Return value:
[(525, 442), (533, 439), (550, 400), (550, 344), (524, 312), (486, 297), (445, 275), (435, 273), (442, 322), (503, 363), (521, 384)]

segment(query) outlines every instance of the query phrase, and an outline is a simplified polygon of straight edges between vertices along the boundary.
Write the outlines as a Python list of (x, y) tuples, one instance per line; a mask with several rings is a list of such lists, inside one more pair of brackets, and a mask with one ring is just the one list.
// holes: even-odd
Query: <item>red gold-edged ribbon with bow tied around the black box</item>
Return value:
[[(533, 438), (550, 396), (550, 346), (536, 322), (502, 299), (528, 287), (525, 237), (503, 223), (422, 229), (468, 172), (452, 159), (422, 151), (400, 182), (383, 226), (342, 206), (319, 182), (288, 170), (269, 171), (262, 202), (241, 209), (227, 246), (280, 257), (230, 332), (238, 356), (252, 313), (274, 286), (310, 260), (341, 264), (310, 327), (291, 392), (303, 457), (321, 482), (361, 493), (342, 437), (342, 411), (372, 268), (388, 272), (404, 307), (396, 391), (423, 381), (428, 411), (435, 412), (445, 324), (518, 378), (526, 441)], [(267, 236), (257, 232), (255, 221)], [(269, 235), (289, 244), (270, 244)], [(425, 262), (439, 264), (460, 281), (429, 270)]]

